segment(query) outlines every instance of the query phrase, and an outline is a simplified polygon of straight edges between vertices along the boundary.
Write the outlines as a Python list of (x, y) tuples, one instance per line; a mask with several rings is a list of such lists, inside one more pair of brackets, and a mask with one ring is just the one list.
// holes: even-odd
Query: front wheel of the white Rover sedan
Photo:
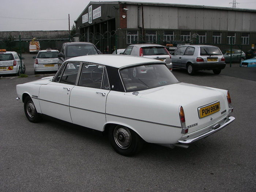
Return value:
[(35, 109), (35, 105), (29, 96), (25, 98), (24, 110), (26, 117), (30, 122), (37, 123), (38, 121), (40, 121), (41, 116), (39, 113), (37, 113), (37, 109)]

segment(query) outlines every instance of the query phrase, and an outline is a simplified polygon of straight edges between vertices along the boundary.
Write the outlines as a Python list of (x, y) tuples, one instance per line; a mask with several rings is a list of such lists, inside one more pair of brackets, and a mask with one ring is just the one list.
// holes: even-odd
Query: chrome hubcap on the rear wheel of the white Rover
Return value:
[(132, 141), (131, 132), (127, 127), (118, 125), (114, 129), (114, 140), (120, 148), (128, 148)]

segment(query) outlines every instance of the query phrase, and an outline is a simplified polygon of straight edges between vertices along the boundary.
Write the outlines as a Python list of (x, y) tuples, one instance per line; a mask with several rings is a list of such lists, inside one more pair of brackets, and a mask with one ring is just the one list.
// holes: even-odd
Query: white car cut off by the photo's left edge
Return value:
[(6, 51), (6, 49), (0, 49), (0, 74), (17, 74), (20, 75), (22, 62), (22, 73), (25, 73), (24, 57), (20, 57), (18, 53), (14, 51)]

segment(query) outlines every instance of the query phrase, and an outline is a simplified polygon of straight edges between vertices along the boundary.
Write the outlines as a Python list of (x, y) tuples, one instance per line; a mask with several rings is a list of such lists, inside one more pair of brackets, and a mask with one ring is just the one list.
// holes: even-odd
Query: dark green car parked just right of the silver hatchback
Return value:
[(241, 61), (245, 60), (245, 53), (240, 49), (232, 49), (232, 54), (230, 54), (230, 49), (223, 49), (221, 52), (223, 57), (225, 57), (226, 63), (230, 62), (230, 56), (232, 62), (240, 63)]

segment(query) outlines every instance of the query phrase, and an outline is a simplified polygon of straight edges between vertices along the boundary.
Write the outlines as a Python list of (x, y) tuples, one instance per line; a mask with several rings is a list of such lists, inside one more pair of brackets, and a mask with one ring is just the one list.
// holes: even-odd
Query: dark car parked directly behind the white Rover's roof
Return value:
[(58, 54), (59, 67), (63, 62), (72, 57), (78, 57), (83, 55), (102, 54), (94, 44), (90, 42), (67, 42), (60, 48), (60, 54)]

